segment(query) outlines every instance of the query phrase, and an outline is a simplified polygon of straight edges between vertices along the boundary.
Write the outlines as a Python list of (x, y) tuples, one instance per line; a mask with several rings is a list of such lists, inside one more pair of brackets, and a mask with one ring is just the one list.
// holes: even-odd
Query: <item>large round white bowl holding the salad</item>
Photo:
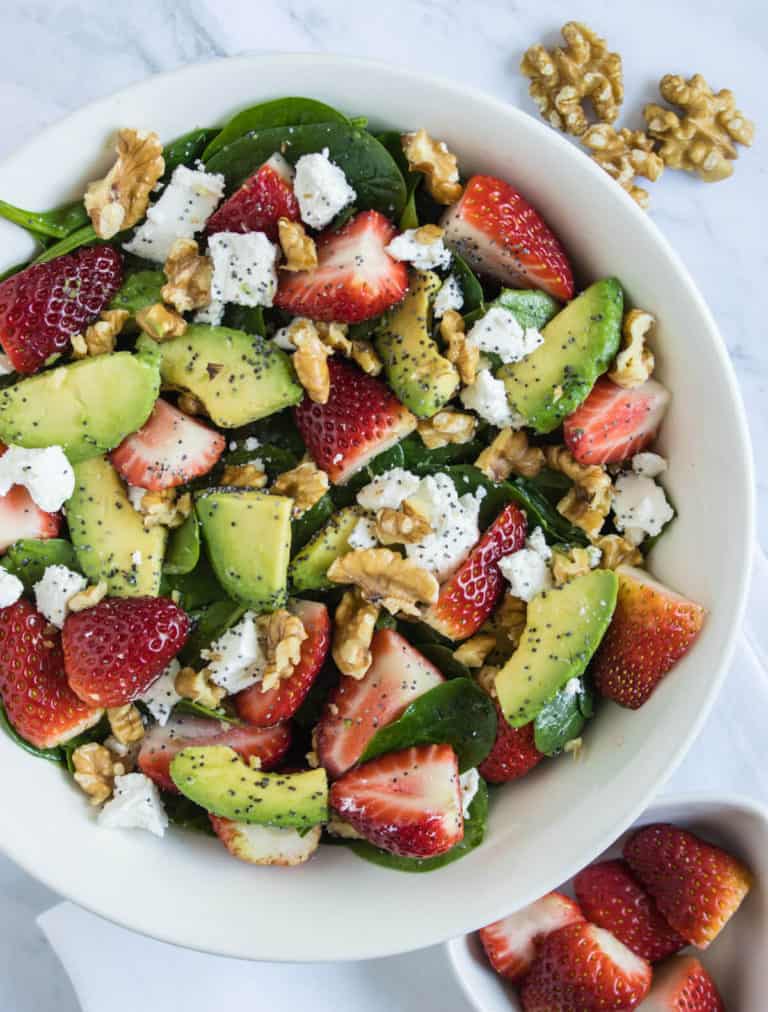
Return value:
[[(122, 125), (171, 139), (254, 101), (312, 95), (376, 125), (426, 125), (464, 172), (510, 180), (560, 235), (583, 280), (616, 274), (660, 321), (659, 373), (674, 392), (662, 449), (680, 518), (654, 560), (659, 578), (711, 615), (690, 655), (639, 711), (606, 706), (581, 762), (543, 763), (496, 799), (488, 840), (427, 875), (323, 848), (281, 871), (232, 860), (216, 841), (106, 832), (55, 767), (0, 737), (0, 844), (52, 889), (165, 941), (252, 959), (352, 959), (418, 948), (520, 907), (588, 863), (647, 807), (711, 706), (748, 583), (752, 476), (744, 413), (716, 327), (650, 219), (593, 162), (532, 116), (460, 85), (323, 55), (242, 57), (188, 67), (99, 101), (0, 166), (0, 194), (46, 207), (82, 192)], [(0, 230), (3, 265), (28, 254)]]

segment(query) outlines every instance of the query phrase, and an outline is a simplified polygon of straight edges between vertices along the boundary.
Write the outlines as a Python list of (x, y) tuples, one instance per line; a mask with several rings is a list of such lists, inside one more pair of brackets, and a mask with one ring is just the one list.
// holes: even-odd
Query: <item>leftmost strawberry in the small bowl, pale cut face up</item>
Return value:
[(584, 920), (579, 905), (563, 893), (547, 893), (529, 907), (480, 929), (480, 940), (497, 974), (519, 981), (531, 967), (547, 935)]

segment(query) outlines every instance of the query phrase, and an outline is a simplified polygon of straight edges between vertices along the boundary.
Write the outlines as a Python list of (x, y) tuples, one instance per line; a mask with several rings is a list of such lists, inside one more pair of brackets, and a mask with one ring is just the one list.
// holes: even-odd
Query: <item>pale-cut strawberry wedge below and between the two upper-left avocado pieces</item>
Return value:
[(129, 484), (170, 489), (206, 475), (226, 445), (223, 435), (159, 400), (141, 429), (109, 456)]

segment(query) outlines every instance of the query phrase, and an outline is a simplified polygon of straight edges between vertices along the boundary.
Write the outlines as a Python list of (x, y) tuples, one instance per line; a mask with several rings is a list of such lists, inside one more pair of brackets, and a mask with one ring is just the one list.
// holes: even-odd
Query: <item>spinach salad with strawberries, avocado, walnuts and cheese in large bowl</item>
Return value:
[(0, 214), (0, 712), (100, 826), (438, 867), (695, 640), (654, 318), (513, 181), (291, 97)]

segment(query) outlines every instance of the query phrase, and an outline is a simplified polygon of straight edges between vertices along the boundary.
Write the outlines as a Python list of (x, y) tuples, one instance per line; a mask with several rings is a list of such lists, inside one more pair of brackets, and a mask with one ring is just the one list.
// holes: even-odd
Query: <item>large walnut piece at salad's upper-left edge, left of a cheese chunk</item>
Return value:
[(144, 218), (150, 193), (165, 172), (157, 134), (121, 130), (116, 148), (117, 161), (103, 179), (89, 183), (85, 191), (85, 209), (100, 239), (111, 239)]

